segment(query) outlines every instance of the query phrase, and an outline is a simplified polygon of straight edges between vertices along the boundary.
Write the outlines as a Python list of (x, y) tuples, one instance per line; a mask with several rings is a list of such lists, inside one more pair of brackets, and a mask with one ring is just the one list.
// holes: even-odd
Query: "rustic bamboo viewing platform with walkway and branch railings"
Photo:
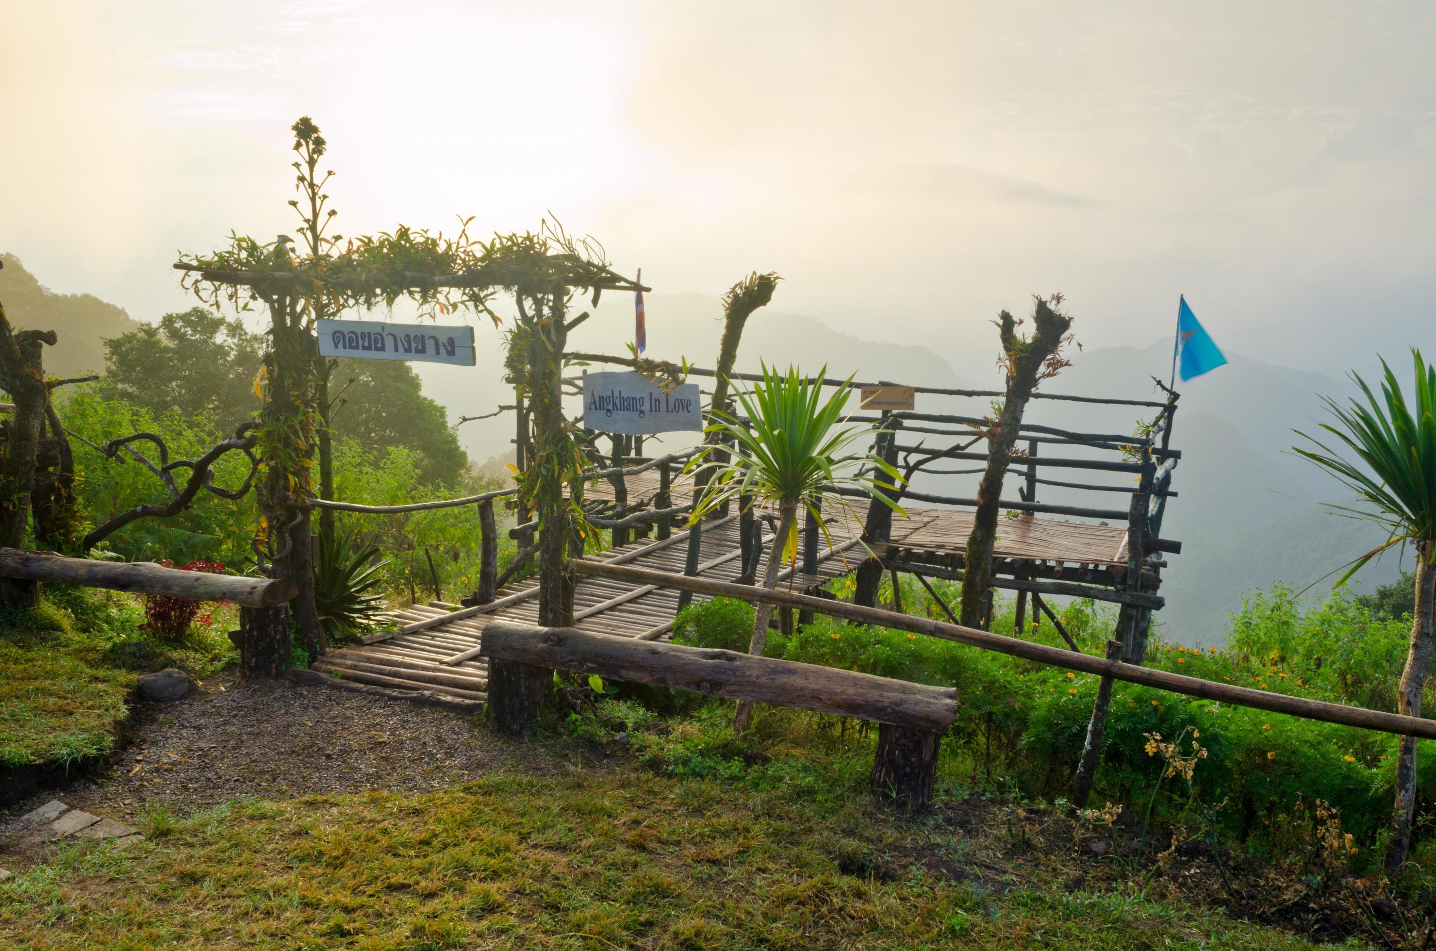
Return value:
[[(596, 355), (582, 356), (597, 359)], [(827, 382), (840, 385), (843, 381)], [(992, 395), (987, 391), (916, 389), (943, 398)], [(1051, 394), (1040, 396), (1067, 399)], [(1139, 435), (1073, 432), (1040, 424), (1021, 427), (1025, 451), (1012, 460), (1007, 480), (1015, 487), (1015, 497), (1004, 491), (1001, 507), (1010, 517), (999, 526), (989, 567), (994, 588), (1017, 592), (1020, 625), (1028, 602), (1034, 619), (1045, 612), (1055, 623), (1051, 606), (1043, 602), (1051, 596), (1093, 598), (1142, 613), (1159, 609), (1163, 600), (1156, 590), (1166, 565), (1160, 553), (1180, 550), (1179, 543), (1159, 537), (1166, 503), (1176, 494), (1170, 490), (1172, 470), (1180, 458), (1180, 451), (1170, 448), (1175, 396), (1166, 402), (1073, 399), (1091, 405), (1094, 412), (1104, 404), (1122, 407), (1120, 412), (1130, 412), (1127, 407), (1160, 411)], [(517, 415), (516, 448), (521, 468), (530, 451), (521, 404)], [(985, 451), (969, 451), (981, 441), (975, 435), (984, 425), (982, 417), (898, 411), (853, 417), (850, 422), (872, 425), (873, 453), (909, 477), (954, 471), (935, 468), (935, 464), (987, 458)], [(590, 434), (590, 445), (597, 435)], [(945, 448), (942, 437), (956, 441)], [(646, 458), (640, 438), (612, 440), (612, 455), (590, 453), (593, 465), (582, 487), (582, 503), (592, 524), (612, 530), (613, 547), (590, 553), (589, 559), (714, 582), (751, 583), (763, 576), (767, 546), (754, 542), (764, 536), (764, 524), (768, 534), (774, 530), (771, 513), (734, 506), (737, 511), (705, 519), (698, 532), (691, 532), (686, 524), (694, 487), (684, 465), (694, 450)], [(1071, 476), (1055, 474), (1081, 481), (1054, 478), (1055, 470), (1071, 470)], [(972, 470), (956, 470), (956, 474), (964, 471)], [(1103, 477), (1123, 481), (1103, 484)], [(1040, 503), (1040, 486), (1078, 490), (1083, 497), (1099, 501), (1083, 506)], [(513, 490), (389, 507), (312, 500), (316, 507), (355, 511), (477, 504), (484, 513), (485, 536), (481, 539), (482, 580), (480, 590), (465, 599), (468, 606), (429, 602), (393, 611), (389, 616), (393, 629), (320, 658), (314, 669), (358, 684), (426, 691), (460, 702), (482, 701), (488, 688), (487, 661), (481, 657), (484, 629), (494, 621), (538, 623), (537, 579), (504, 583), (505, 577), (497, 572), (494, 503), (510, 494)], [(1127, 496), (1127, 504), (1113, 506), (1113, 494)], [(975, 500), (916, 491), (910, 484), (896, 496), (899, 511), (866, 498), (831, 506), (824, 511), (826, 532), (808, 516), (807, 524), (800, 526), (800, 563), (796, 572), (784, 572), (780, 588), (814, 595), (826, 582), (862, 567), (854, 600), (870, 606), (877, 579), (885, 572), (912, 573), (919, 579), (961, 579)], [(520, 546), (518, 560), (528, 559), (534, 526), (520, 523), (508, 529), (508, 536)], [(668, 639), (675, 615), (695, 598), (707, 595), (584, 573), (576, 579), (573, 628), (622, 638)], [(946, 605), (943, 609), (951, 615)], [(810, 618), (811, 613), (804, 612), (801, 619)], [(780, 611), (778, 622), (791, 626), (791, 612)], [(1060, 623), (1057, 628), (1063, 632)]]

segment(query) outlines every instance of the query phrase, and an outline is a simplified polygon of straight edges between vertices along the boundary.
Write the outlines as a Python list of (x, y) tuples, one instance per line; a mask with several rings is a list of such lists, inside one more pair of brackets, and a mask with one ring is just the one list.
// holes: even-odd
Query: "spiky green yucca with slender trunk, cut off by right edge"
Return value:
[[(1396, 374), (1381, 361), (1384, 379), (1381, 398), (1358, 375), (1351, 379), (1361, 388), (1364, 401), (1348, 407), (1323, 398), (1334, 422), (1321, 428), (1341, 441), (1333, 450), (1305, 432), (1298, 435), (1315, 448), (1294, 447), (1297, 453), (1331, 473), (1343, 486), (1367, 503), (1364, 507), (1333, 506), (1343, 514), (1376, 521), (1387, 530), (1384, 544), (1358, 557), (1344, 582), (1373, 557), (1402, 543), (1416, 550), (1416, 603), (1412, 612), (1412, 639), (1406, 667), (1396, 695), (1397, 713), (1422, 715), (1422, 688), (1432, 654), (1432, 611), (1436, 595), (1436, 368), (1412, 349), (1416, 366), (1414, 408), (1407, 404)], [(1343, 458), (1343, 451), (1356, 461)], [(1341, 582), (1337, 582), (1338, 585)], [(1396, 807), (1391, 817), (1391, 848), (1387, 869), (1394, 872), (1410, 850), (1412, 820), (1416, 813), (1416, 738), (1402, 737), (1396, 761)]]

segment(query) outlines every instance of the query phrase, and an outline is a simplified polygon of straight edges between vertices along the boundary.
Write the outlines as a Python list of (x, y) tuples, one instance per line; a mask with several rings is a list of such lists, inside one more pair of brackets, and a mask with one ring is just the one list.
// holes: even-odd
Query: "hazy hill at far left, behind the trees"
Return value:
[(55, 346), (45, 348), (45, 371), (79, 376), (105, 369), (106, 338), (139, 325), (122, 307), (90, 294), (57, 294), (40, 284), (14, 254), (0, 254), (0, 305), (16, 329), (55, 330)]

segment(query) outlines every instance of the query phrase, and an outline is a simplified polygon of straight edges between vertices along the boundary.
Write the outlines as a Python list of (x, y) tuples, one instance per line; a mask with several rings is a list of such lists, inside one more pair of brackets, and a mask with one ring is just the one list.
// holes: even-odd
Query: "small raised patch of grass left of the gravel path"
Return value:
[(108, 753), (132, 682), (45, 639), (0, 636), (0, 766), (69, 769)]

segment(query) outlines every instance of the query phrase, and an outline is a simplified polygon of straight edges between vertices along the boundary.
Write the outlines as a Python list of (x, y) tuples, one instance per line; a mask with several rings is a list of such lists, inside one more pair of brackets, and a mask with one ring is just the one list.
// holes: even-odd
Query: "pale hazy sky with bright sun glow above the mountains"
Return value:
[(1031, 292), (1064, 292), (1087, 346), (1169, 335), (1185, 292), (1223, 346), (1324, 369), (1436, 317), (1429, 3), (0, 0), (0, 249), (139, 319), (187, 306), (177, 249), (293, 231), (302, 113), (345, 233), (551, 210), (658, 289), (778, 270), (775, 306), (959, 369)]

